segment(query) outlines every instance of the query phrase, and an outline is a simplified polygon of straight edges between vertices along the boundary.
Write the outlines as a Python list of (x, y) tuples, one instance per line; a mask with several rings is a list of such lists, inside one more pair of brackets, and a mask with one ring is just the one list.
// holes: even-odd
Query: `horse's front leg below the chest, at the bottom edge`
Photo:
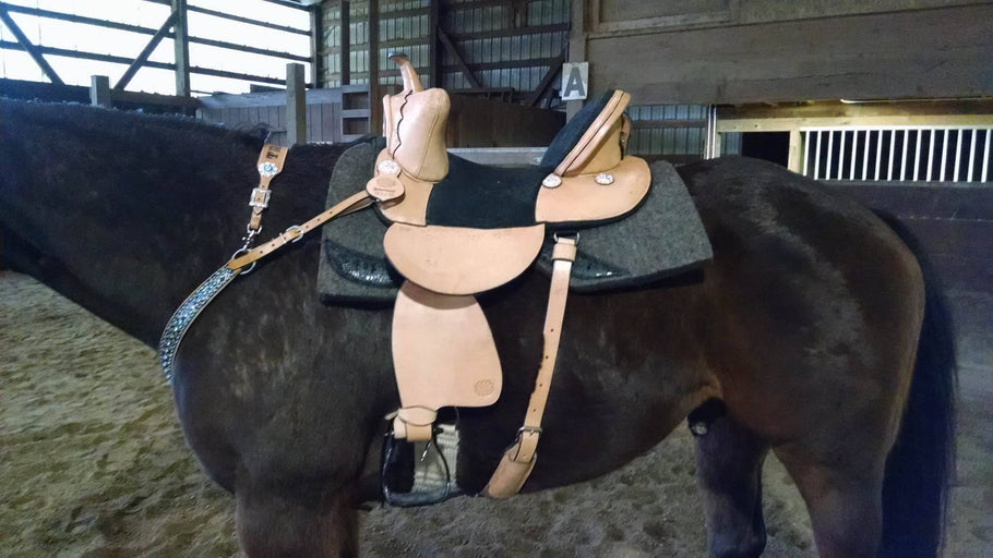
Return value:
[(249, 558), (345, 558), (359, 554), (358, 514), (347, 494), (295, 497), (239, 486), (235, 522)]

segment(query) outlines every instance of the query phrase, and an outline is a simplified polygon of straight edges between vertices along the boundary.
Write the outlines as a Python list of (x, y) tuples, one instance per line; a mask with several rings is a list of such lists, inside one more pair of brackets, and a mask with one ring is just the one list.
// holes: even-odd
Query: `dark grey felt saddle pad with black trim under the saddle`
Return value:
[[(372, 178), (381, 145), (361, 144), (338, 159), (327, 191), (328, 207)], [(384, 223), (375, 211), (360, 211), (324, 226), (318, 291), (328, 304), (393, 304), (403, 282), (383, 252)], [(549, 238), (538, 257), (551, 274)], [(651, 166), (651, 189), (626, 218), (579, 231), (570, 287), (579, 292), (654, 283), (694, 269), (711, 257), (710, 243), (685, 185), (668, 162)]]

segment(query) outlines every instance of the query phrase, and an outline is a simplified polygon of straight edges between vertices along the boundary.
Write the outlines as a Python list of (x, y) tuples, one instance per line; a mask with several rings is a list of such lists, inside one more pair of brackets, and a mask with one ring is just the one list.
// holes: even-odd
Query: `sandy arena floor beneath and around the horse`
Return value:
[[(990, 298), (961, 301), (988, 320)], [(978, 308), (978, 310), (977, 310)], [(967, 319), (967, 322), (969, 322)], [(989, 328), (985, 325), (984, 328)], [(993, 556), (989, 332), (968, 330), (945, 555)], [(607, 476), (506, 501), (366, 514), (366, 556), (704, 556), (685, 427)], [(814, 556), (782, 466), (764, 472), (765, 556)], [(240, 556), (232, 500), (200, 470), (154, 352), (25, 276), (0, 272), (0, 556)]]

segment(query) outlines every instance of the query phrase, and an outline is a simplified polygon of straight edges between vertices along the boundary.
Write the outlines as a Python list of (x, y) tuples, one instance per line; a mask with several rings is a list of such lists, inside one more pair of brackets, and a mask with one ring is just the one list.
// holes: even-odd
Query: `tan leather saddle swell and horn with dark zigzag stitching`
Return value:
[(419, 89), (420, 80), (404, 57), (404, 90), (383, 97), (383, 135), (386, 151), (404, 172), (417, 180), (438, 182), (448, 173), (445, 125), (452, 108), (448, 94), (432, 87)]

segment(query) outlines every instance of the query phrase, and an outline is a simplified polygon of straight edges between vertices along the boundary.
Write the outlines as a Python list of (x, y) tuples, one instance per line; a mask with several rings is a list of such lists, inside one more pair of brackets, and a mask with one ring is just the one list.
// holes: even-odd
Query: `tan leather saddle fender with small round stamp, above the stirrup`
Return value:
[[(394, 436), (420, 438), (442, 407), (487, 407), (503, 387), (500, 357), (482, 308), (472, 296), (429, 291), (410, 281), (393, 310), (393, 366), (400, 395)], [(400, 430), (396, 422), (404, 422)]]

